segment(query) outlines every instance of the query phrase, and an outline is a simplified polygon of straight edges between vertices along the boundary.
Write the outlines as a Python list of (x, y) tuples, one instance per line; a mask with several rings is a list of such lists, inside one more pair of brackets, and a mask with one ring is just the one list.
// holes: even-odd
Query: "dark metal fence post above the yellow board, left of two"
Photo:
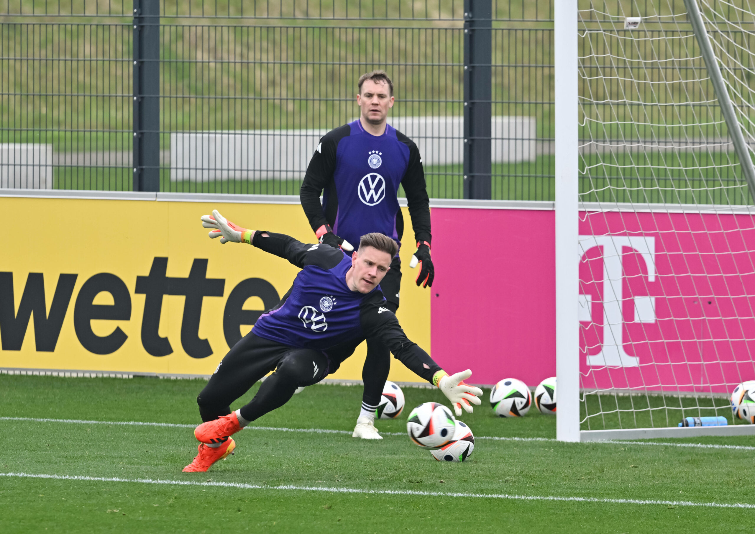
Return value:
[(160, 0), (134, 0), (134, 191), (160, 190)]

